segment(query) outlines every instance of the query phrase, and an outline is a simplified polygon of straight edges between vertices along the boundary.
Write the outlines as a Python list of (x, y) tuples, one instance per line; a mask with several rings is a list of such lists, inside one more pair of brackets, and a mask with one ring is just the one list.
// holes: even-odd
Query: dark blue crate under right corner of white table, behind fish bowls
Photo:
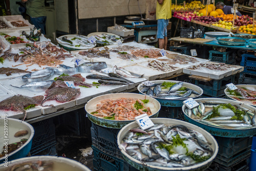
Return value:
[(211, 97), (224, 97), (224, 90), (226, 89), (226, 84), (234, 82), (234, 75), (224, 77), (219, 80), (210, 80), (207, 82), (195, 80), (195, 85), (203, 89), (203, 95)]

